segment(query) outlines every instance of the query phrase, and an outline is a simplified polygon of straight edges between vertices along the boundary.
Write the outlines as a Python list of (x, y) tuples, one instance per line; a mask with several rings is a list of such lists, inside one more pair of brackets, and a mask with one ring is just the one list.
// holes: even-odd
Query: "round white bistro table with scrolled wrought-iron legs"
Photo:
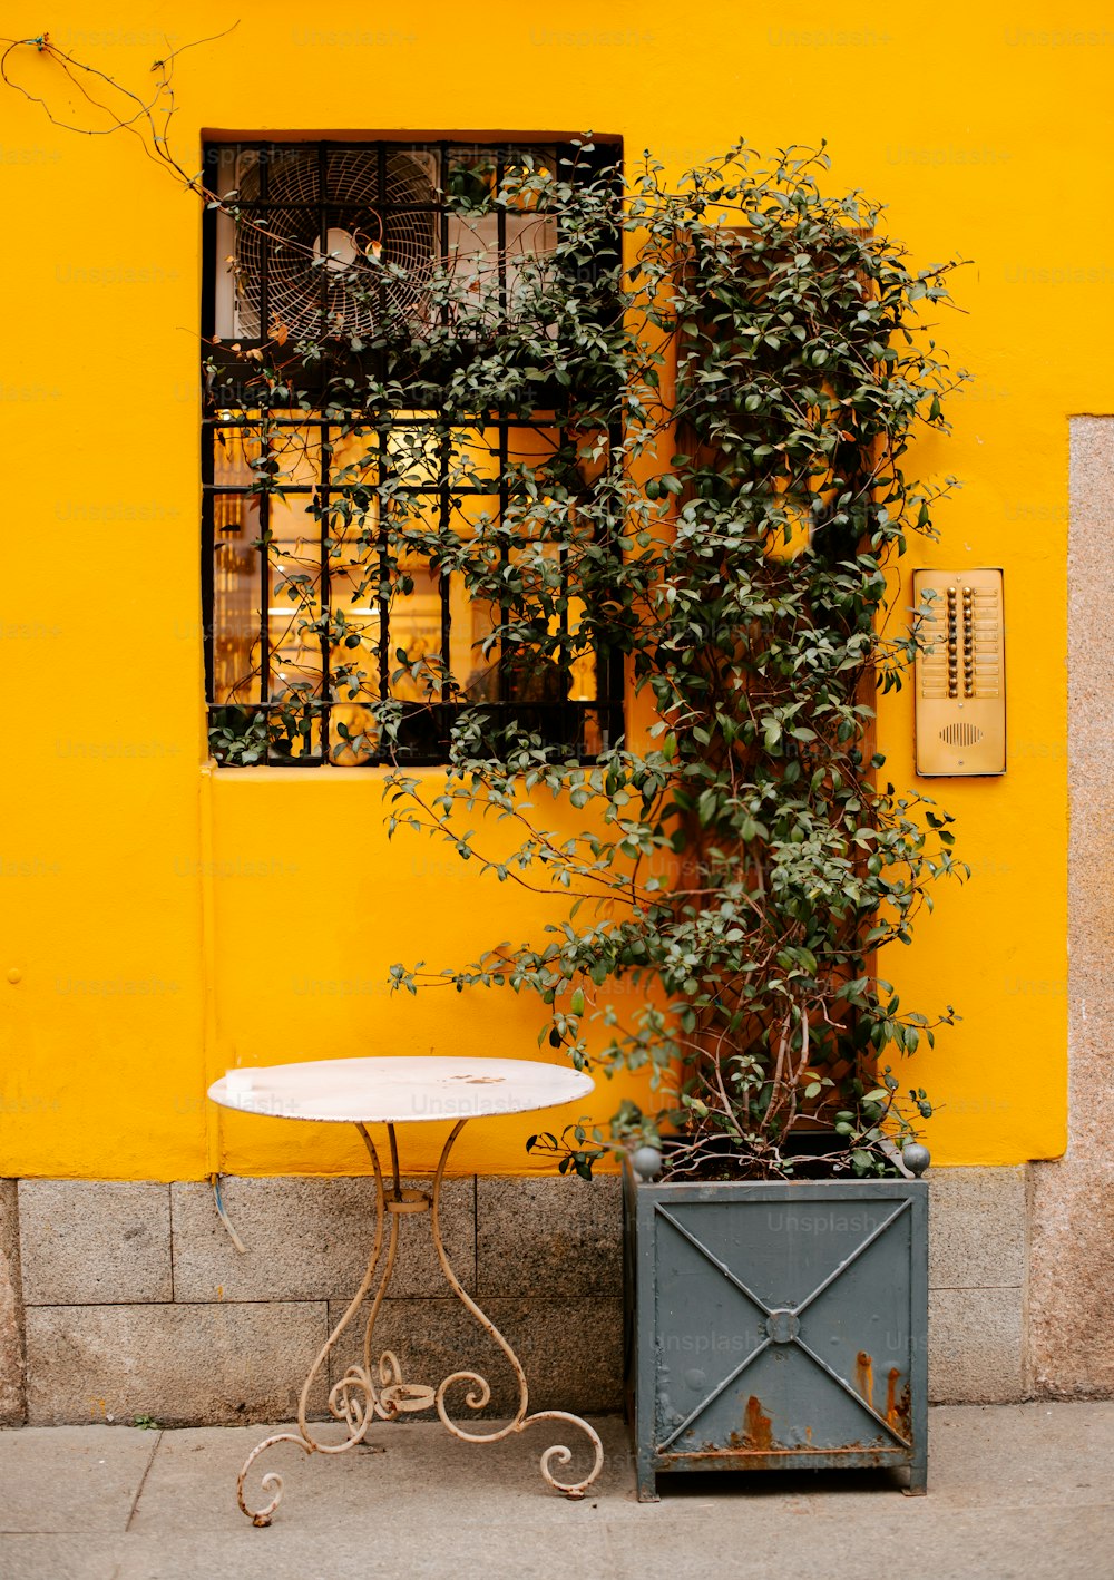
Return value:
[[(537, 1420), (564, 1420), (588, 1435), (594, 1462), (586, 1476), (578, 1480), (561, 1480), (553, 1465), (569, 1465), (570, 1449), (555, 1444), (542, 1454), (540, 1465), (545, 1480), (567, 1498), (583, 1498), (585, 1490), (604, 1468), (604, 1446), (596, 1431), (561, 1409), (545, 1409), (529, 1414), (529, 1390), (526, 1373), (518, 1356), (502, 1334), (480, 1311), (457, 1278), (441, 1236), (441, 1185), (446, 1164), (457, 1136), (469, 1119), (495, 1114), (523, 1114), (539, 1108), (556, 1108), (586, 1097), (594, 1081), (591, 1076), (561, 1065), (531, 1063), (523, 1059), (329, 1059), (310, 1063), (270, 1065), (253, 1070), (229, 1070), (215, 1081), (209, 1095), (223, 1108), (243, 1114), (261, 1114), (273, 1119), (324, 1120), (326, 1123), (356, 1125), (371, 1158), (376, 1188), (376, 1224), (367, 1270), (348, 1310), (321, 1348), (302, 1386), (299, 1398), (297, 1431), (278, 1431), (259, 1443), (248, 1455), (237, 1484), (240, 1509), (254, 1525), (270, 1525), (283, 1498), (283, 1479), (273, 1471), (262, 1477), (262, 1488), (270, 1493), (270, 1503), (253, 1510), (245, 1498), (245, 1482), (256, 1458), (277, 1443), (295, 1443), (307, 1454), (343, 1454), (367, 1436), (371, 1424), (395, 1420), (401, 1414), (436, 1409), (442, 1425), (465, 1443), (498, 1443), (512, 1431), (523, 1431)], [(397, 1125), (452, 1122), (452, 1131), (441, 1149), (433, 1183), (425, 1190), (403, 1190), (398, 1169)], [(379, 1153), (368, 1125), (384, 1123), (390, 1144), (390, 1180), (384, 1182)], [(454, 1294), (485, 1329), (507, 1357), (518, 1384), (518, 1408), (514, 1420), (493, 1431), (468, 1431), (450, 1419), (446, 1394), (455, 1384), (466, 1384), (465, 1405), (479, 1411), (491, 1398), (491, 1387), (477, 1371), (452, 1371), (436, 1386), (408, 1382), (393, 1351), (382, 1351), (373, 1360), (374, 1322), (379, 1307), (390, 1286), (398, 1255), (400, 1221), (406, 1217), (430, 1215), (433, 1247)], [(387, 1228), (389, 1226), (389, 1228)], [(386, 1259), (384, 1259), (386, 1242)], [(382, 1272), (379, 1266), (382, 1262)], [(346, 1435), (338, 1443), (326, 1443), (310, 1430), (307, 1409), (310, 1390), (321, 1368), (329, 1360), (341, 1334), (357, 1316), (371, 1294), (371, 1307), (363, 1327), (362, 1362), (351, 1365), (340, 1382), (329, 1392), (329, 1413), (340, 1420)]]

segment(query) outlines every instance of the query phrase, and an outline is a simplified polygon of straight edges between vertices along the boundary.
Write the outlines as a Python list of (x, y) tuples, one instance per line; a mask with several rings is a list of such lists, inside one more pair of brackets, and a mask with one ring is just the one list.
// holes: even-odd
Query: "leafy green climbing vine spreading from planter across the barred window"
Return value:
[[(85, 81), (47, 40), (24, 46)], [(145, 100), (95, 73), (123, 95), (115, 130), (256, 224), (172, 158), (158, 65)], [(447, 193), (454, 212), (551, 221), (512, 288), (507, 269), (450, 258), (408, 281), (370, 215), (357, 256), (314, 265), (371, 308), (371, 330), (322, 292), (310, 327), (273, 321), (248, 351), (205, 357), (210, 409), (235, 404), (261, 498), (283, 499), (303, 460), (291, 416), (332, 425), (343, 465), (310, 515), (354, 604), (406, 599), (420, 559), (490, 611), (469, 665), (502, 698), (528, 702), (539, 675), (567, 698), (588, 660), (627, 675), (645, 727), (572, 747), (529, 706), (493, 709), (449, 654), (389, 651), (386, 623), (321, 597), (319, 566), (281, 566), (291, 618), (332, 656), (330, 698), (352, 706), (341, 760), (393, 762), (390, 833), (444, 839), (551, 905), (540, 942), (400, 962), (395, 986), (533, 994), (539, 1040), (577, 1066), (649, 1071), (651, 1103), (624, 1101), (610, 1130), (533, 1138), (563, 1171), (649, 1142), (673, 1174), (784, 1177), (796, 1138), (825, 1127), (830, 1168), (885, 1174), (931, 1114), (893, 1059), (953, 1011), (902, 1005), (877, 962), (965, 869), (951, 818), (886, 782), (874, 700), (902, 684), (929, 613), (902, 607), (893, 569), (953, 487), (905, 468), (918, 431), (947, 431), (964, 378), (931, 329), (956, 265), (913, 269), (880, 209), (828, 196), (826, 172), (823, 150), (740, 142), (670, 185), (649, 155), (600, 169), (588, 139), (498, 182), (476, 167)], [(398, 412), (423, 420), (400, 433)], [(548, 439), (493, 477), (496, 414)], [(436, 512), (406, 487), (430, 468), (449, 483)], [(466, 504), (480, 472), (498, 510)], [(256, 547), (275, 553), (265, 532)], [(384, 697), (371, 676), (387, 672)], [(262, 760), (275, 730), (295, 754), (313, 695), (295, 683), (277, 714), (226, 709), (218, 755)], [(450, 716), (435, 788), (403, 760), (422, 708)]]

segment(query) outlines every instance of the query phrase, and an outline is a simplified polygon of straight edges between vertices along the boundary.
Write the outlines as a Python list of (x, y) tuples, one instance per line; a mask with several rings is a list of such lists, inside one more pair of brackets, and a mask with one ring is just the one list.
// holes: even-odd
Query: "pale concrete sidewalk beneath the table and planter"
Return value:
[(1114, 1575), (1114, 1403), (934, 1409), (928, 1498), (891, 1473), (781, 1473), (662, 1479), (662, 1501), (638, 1504), (623, 1422), (596, 1425), (608, 1458), (583, 1503), (537, 1473), (564, 1441), (553, 1424), (490, 1447), (436, 1424), (376, 1427), (371, 1447), (332, 1458), (284, 1444), (256, 1466), (286, 1479), (269, 1529), (235, 1506), (259, 1427), (0, 1431), (0, 1577)]

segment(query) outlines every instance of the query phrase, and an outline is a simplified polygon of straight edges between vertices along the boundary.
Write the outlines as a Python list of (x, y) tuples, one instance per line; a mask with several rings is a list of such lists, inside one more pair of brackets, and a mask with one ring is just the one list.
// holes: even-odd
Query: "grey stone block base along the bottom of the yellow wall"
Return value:
[[(1026, 1169), (931, 1174), (929, 1379), (937, 1401), (1027, 1397)], [(359, 1286), (370, 1179), (0, 1182), (0, 1422), (288, 1420)], [(446, 1248), (517, 1349), (536, 1409), (623, 1408), (619, 1182), (446, 1183)], [(311, 1400), (356, 1359), (359, 1329)], [(506, 1360), (447, 1291), (428, 1220), (403, 1220), (376, 1352), (439, 1381), (476, 1368), (514, 1408)], [(463, 1389), (461, 1389), (463, 1394)], [(461, 1400), (463, 1406), (463, 1400)], [(468, 1411), (461, 1408), (461, 1416)]]

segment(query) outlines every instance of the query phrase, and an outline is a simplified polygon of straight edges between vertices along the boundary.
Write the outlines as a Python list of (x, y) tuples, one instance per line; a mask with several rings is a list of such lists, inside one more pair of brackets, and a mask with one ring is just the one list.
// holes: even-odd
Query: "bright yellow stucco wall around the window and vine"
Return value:
[[(172, 16), (174, 43), (226, 6)], [(551, 21), (559, 16), (558, 21)], [(19, 3), (125, 82), (167, 51), (166, 8)], [(1065, 1141), (1067, 417), (1109, 411), (1114, 258), (1100, 198), (1114, 28), (1097, 0), (980, 11), (649, 0), (604, 11), (294, 0), (240, 8), (186, 54), (174, 139), (204, 131), (621, 134), (672, 172), (738, 133), (828, 137), (833, 186), (890, 204), (918, 262), (958, 251), (940, 338), (978, 378), (920, 466), (964, 490), (923, 562), (1000, 564), (1010, 768), (937, 782), (975, 878), (885, 962), (964, 1014), (910, 1078), (943, 1106), (940, 1163)], [(35, 57), (13, 74), (88, 125)], [(450, 852), (389, 845), (379, 776), (204, 766), (198, 586), (201, 216), (126, 136), (81, 137), (0, 92), (6, 430), (0, 1174), (198, 1177), (362, 1168), (348, 1138), (220, 1117), (232, 1062), (536, 1051), (509, 994), (387, 997), (395, 959), (450, 964), (540, 913)], [(905, 570), (905, 585), (912, 562)], [(912, 702), (880, 744), (912, 779)], [(335, 830), (327, 836), (326, 830)], [(16, 980), (17, 978), (17, 980)], [(599, 1095), (610, 1112), (615, 1092)], [(577, 1112), (567, 1117), (578, 1117)], [(561, 1115), (551, 1115), (550, 1123)], [(529, 1169), (529, 1117), (472, 1127), (460, 1168)], [(439, 1139), (439, 1138), (438, 1138)], [(411, 1161), (428, 1161), (433, 1138)]]

